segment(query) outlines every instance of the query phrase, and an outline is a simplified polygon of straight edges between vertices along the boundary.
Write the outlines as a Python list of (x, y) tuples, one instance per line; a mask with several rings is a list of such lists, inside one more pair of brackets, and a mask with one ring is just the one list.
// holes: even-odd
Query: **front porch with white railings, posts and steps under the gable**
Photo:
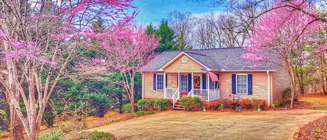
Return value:
[(219, 83), (209, 78), (208, 73), (165, 72), (163, 75), (157, 74), (157, 77), (159, 81), (162, 77), (164, 97), (172, 99), (173, 105), (182, 96), (199, 97), (206, 102), (220, 100)]

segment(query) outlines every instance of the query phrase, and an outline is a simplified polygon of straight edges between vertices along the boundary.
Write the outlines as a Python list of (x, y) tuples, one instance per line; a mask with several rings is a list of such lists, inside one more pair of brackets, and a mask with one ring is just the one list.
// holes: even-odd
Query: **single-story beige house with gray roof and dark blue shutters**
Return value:
[(287, 70), (277, 65), (277, 57), (268, 56), (271, 62), (262, 63), (243, 59), (245, 53), (242, 47), (162, 52), (140, 69), (142, 98), (170, 98), (174, 105), (183, 95), (207, 102), (281, 100), (289, 87)]

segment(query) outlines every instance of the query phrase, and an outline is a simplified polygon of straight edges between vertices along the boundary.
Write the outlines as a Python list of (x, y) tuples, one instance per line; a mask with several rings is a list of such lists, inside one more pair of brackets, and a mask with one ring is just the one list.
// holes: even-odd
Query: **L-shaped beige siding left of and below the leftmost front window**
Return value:
[(164, 91), (153, 90), (153, 73), (144, 73), (144, 98), (164, 98)]

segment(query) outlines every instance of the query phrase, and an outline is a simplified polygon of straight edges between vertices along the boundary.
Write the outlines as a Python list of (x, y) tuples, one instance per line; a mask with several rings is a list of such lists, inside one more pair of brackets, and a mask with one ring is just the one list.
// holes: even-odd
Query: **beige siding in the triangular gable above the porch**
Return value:
[(182, 62), (182, 58), (185, 55), (180, 56), (176, 61), (171, 63), (165, 68), (165, 72), (202, 72), (201, 68), (204, 68), (196, 61), (188, 58), (186, 63)]

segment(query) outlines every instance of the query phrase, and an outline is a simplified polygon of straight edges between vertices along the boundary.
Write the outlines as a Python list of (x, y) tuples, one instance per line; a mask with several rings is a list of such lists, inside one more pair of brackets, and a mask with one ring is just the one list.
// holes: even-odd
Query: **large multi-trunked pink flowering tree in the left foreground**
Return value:
[(0, 0), (0, 85), (10, 106), (12, 139), (22, 139), (22, 127), (35, 139), (56, 83), (70, 75), (68, 63), (87, 44), (84, 29), (100, 16), (119, 25), (113, 26), (119, 32), (135, 16), (131, 1)]

